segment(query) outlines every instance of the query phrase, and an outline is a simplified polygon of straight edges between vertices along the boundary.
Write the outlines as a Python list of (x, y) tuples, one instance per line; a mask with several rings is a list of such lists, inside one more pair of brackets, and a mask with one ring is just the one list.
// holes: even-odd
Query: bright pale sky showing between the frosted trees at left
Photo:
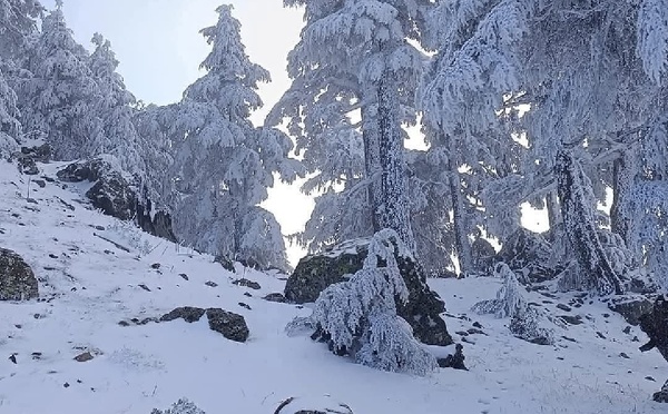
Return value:
[[(53, 0), (42, 3), (51, 9)], [(146, 103), (178, 101), (209, 48), (199, 30), (215, 24), (222, 0), (65, 0), (68, 26), (81, 45), (100, 32), (111, 42), (120, 61), (118, 71), (128, 89)], [(289, 86), (285, 72), (287, 52), (296, 45), (303, 27), (302, 12), (283, 8), (282, 0), (226, 0), (242, 22), (242, 40), (250, 59), (272, 73), (273, 81), (261, 88), (264, 108), (253, 116), (262, 125), (269, 108)], [(298, 185), (278, 184), (263, 204), (276, 216), (284, 234), (303, 229), (313, 201)], [(291, 263), (304, 252), (288, 246)]]

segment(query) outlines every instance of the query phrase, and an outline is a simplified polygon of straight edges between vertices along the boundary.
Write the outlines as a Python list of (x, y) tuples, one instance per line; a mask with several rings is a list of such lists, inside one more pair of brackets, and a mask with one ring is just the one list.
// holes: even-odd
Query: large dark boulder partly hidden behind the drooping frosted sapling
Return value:
[[(285, 285), (287, 302), (315, 302), (327, 286), (347, 280), (350, 275), (362, 268), (369, 241), (369, 238), (345, 241), (322, 254), (304, 257)], [(404, 257), (397, 257), (396, 262), (409, 288), (409, 302), (397, 300), (399, 316), (411, 325), (418, 341), (428, 345), (452, 344), (445, 322), (440, 316), (445, 312), (443, 300), (430, 289), (415, 262)]]

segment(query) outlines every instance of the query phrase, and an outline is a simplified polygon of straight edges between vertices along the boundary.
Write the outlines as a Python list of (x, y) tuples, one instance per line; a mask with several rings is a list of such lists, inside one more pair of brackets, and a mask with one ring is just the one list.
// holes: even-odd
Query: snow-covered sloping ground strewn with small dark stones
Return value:
[[(45, 174), (55, 178), (57, 166), (45, 166)], [(308, 309), (262, 299), (283, 290), (281, 275), (240, 267), (229, 273), (210, 256), (91, 210), (85, 186), (63, 188), (56, 181), (40, 188), (28, 179), (14, 165), (0, 162), (0, 247), (22, 255), (40, 279), (39, 300), (0, 303), (2, 414), (148, 414), (184, 396), (208, 414), (271, 414), (287, 397), (323, 394), (356, 414), (666, 412), (650, 396), (668, 377), (668, 364), (656, 351), (641, 354), (645, 335), (637, 327), (623, 333), (627, 324), (603, 304), (564, 312), (556, 306), (570, 296), (532, 293), (529, 299), (553, 314), (581, 315), (584, 322), (554, 326), (559, 341), (541, 346), (514, 338), (507, 319), (469, 310), (493, 298), (501, 280), (432, 280), (446, 300), (446, 323), (458, 341), (455, 332), (473, 322), (482, 325), (484, 334), (470, 334), (464, 343), (470, 371), (441, 369), (429, 377), (377, 372), (308, 337), (288, 337), (284, 326)], [(28, 187), (38, 204), (26, 200)], [(233, 285), (239, 277), (262, 288)], [(209, 280), (217, 286), (206, 285)], [(244, 315), (248, 342), (225, 339), (208, 329), (206, 318), (118, 324), (185, 305)], [(470, 319), (453, 317), (463, 314)], [(75, 361), (82, 352), (94, 358)]]

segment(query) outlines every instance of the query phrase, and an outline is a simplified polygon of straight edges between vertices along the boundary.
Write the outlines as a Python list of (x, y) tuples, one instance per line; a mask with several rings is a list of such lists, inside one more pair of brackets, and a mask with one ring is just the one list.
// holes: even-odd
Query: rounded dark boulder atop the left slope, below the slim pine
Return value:
[(121, 220), (135, 217), (137, 195), (130, 184), (118, 171), (101, 176), (97, 183), (86, 191), (86, 197), (92, 201), (107, 216)]

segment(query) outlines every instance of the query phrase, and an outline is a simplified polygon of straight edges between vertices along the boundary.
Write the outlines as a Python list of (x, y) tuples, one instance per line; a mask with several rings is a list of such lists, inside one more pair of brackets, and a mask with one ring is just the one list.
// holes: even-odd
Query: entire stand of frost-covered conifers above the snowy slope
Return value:
[[(61, 0), (0, 0), (0, 155), (46, 144), (56, 161), (111, 159), (176, 241), (259, 270), (289, 274), (287, 243), (317, 255), (366, 239), (357, 272), (289, 328), (385, 371), (436, 364), (397, 316), (406, 258), (420, 286), (503, 278), (475, 309), (513, 318), (527, 341), (551, 339), (524, 286), (668, 289), (668, 0), (284, 6), (304, 13), (292, 83), (256, 126), (271, 73), (232, 6), (200, 31), (203, 76), (157, 106), (126, 88), (102, 34), (75, 40)], [(301, 233), (261, 207), (277, 180), (314, 197)], [(528, 207), (548, 231), (522, 227)], [(520, 245), (530, 257), (505, 263)]]

